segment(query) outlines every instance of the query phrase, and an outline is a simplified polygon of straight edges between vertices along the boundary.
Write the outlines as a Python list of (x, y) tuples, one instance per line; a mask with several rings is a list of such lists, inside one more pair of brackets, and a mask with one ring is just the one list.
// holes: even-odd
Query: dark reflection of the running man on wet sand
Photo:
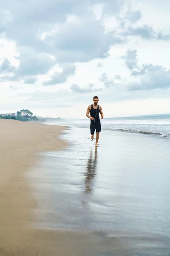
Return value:
[(90, 193), (94, 185), (94, 177), (96, 175), (97, 164), (97, 148), (95, 148), (95, 155), (93, 159), (92, 150), (87, 164), (87, 172), (85, 173), (85, 192)]

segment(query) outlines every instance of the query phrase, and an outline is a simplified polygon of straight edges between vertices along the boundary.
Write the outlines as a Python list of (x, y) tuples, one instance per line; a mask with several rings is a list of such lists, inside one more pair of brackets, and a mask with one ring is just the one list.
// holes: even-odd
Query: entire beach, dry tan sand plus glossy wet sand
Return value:
[(168, 256), (169, 140), (0, 120), (0, 256)]

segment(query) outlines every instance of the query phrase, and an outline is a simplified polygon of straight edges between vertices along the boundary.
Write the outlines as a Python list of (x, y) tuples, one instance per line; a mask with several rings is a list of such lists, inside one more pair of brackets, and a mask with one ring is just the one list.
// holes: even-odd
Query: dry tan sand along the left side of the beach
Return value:
[[(66, 126), (0, 119), (0, 255), (31, 244), (32, 209), (37, 202), (25, 174), (40, 159), (40, 152), (67, 146), (59, 138)], [(33, 232), (33, 233), (32, 233)], [(4, 254), (3, 254), (4, 253)], [(10, 254), (11, 253), (11, 254)]]

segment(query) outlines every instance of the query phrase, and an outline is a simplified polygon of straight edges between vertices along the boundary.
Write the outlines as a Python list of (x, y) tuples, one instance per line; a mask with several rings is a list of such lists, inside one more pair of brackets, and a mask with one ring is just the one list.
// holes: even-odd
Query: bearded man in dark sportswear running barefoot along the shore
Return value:
[[(91, 139), (94, 139), (94, 132), (96, 130), (96, 144), (95, 146), (98, 147), (97, 143), (99, 140), (99, 133), (101, 132), (101, 123), (99, 118), (99, 113), (101, 114), (101, 118), (103, 119), (103, 112), (102, 107), (98, 105), (99, 97), (94, 96), (93, 97), (93, 104), (88, 106), (88, 109), (86, 111), (86, 116), (91, 119)], [(90, 116), (89, 116), (90, 113)]]

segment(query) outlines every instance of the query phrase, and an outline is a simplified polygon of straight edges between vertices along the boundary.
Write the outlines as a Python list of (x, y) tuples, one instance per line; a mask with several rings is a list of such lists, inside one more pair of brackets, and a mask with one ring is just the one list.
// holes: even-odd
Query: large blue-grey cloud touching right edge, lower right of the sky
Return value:
[(170, 87), (170, 70), (162, 66), (148, 67), (139, 81), (128, 84), (127, 90), (153, 90)]

